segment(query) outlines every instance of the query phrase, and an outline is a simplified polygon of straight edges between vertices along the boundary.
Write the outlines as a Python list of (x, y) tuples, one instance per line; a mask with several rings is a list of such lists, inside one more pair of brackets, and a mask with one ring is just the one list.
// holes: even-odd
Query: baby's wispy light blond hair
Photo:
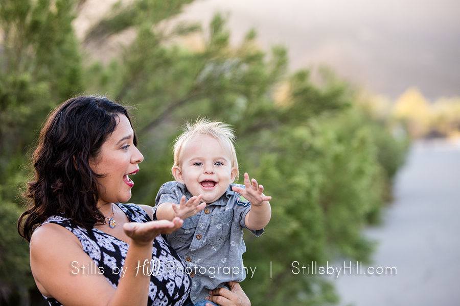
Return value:
[(236, 169), (235, 179), (233, 180), (233, 182), (235, 182), (239, 176), (238, 160), (234, 144), (236, 136), (234, 130), (229, 124), (201, 118), (196, 119), (195, 123), (186, 122), (184, 125), (182, 125), (182, 131), (183, 133), (177, 137), (174, 143), (174, 166), (180, 167), (183, 148), (191, 138), (197, 135), (208, 135), (215, 138), (222, 147), (225, 147), (225, 144), (228, 144), (230, 147), (232, 167)]

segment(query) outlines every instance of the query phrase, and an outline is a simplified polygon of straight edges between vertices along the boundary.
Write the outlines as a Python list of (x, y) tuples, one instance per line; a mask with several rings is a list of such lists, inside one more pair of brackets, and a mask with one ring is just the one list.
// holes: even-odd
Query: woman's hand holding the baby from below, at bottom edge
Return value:
[[(206, 297), (206, 300), (212, 301), (221, 306), (251, 306), (251, 301), (241, 289), (237, 282), (228, 282), (230, 290), (219, 288), (211, 290), (211, 296)], [(211, 303), (206, 303), (206, 306), (212, 306)]]

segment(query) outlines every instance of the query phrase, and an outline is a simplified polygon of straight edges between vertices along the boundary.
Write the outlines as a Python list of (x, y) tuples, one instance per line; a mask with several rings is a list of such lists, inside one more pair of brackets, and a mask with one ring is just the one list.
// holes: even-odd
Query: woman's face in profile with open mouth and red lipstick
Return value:
[(89, 163), (94, 172), (104, 175), (98, 179), (102, 186), (99, 207), (107, 202), (127, 202), (131, 198), (134, 183), (128, 175), (139, 171), (137, 164), (144, 160), (133, 144), (134, 131), (128, 118), (119, 114), (117, 120), (117, 126), (102, 145), (100, 155)]

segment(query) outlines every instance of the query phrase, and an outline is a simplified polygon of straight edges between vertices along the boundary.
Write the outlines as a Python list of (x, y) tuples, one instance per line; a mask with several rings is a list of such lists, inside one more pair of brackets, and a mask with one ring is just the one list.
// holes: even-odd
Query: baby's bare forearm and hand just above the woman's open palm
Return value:
[(199, 196), (192, 196), (186, 203), (186, 197), (183, 195), (179, 204), (161, 203), (156, 209), (156, 218), (158, 220), (166, 219), (171, 221), (174, 217), (184, 220), (194, 216), (206, 207), (206, 203), (200, 203), (202, 197), (201, 194)]

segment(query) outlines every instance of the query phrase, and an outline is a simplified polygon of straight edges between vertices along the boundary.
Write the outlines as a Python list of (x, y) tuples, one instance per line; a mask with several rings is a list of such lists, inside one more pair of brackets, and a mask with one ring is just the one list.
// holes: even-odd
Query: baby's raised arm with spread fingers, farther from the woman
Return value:
[(247, 173), (244, 173), (244, 186), (246, 188), (236, 186), (232, 188), (233, 191), (238, 192), (251, 203), (251, 209), (244, 218), (244, 224), (249, 230), (261, 230), (271, 218), (271, 207), (268, 202), (271, 200), (271, 196), (263, 194), (264, 187), (258, 185), (255, 179), (249, 181)]

